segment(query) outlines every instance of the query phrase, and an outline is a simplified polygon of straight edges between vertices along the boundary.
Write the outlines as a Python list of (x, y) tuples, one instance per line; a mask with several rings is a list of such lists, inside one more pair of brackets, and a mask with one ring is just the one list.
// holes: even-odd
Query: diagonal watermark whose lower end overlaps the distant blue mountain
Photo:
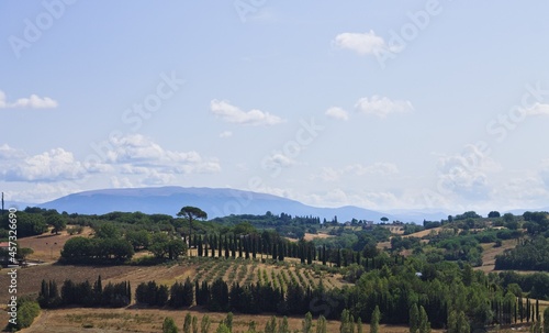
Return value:
[[(300, 127), (295, 131), (295, 135), (285, 141), (279, 149), (272, 151), (270, 155), (266, 155), (261, 159), (259, 163), (261, 169), (267, 171), (270, 178), (279, 177), (284, 168), (283, 163), (281, 164), (280, 162), (298, 158), (305, 147), (311, 145), (324, 130), (325, 126), (316, 123), (314, 118), (311, 118), (309, 121), (302, 119)], [(249, 192), (232, 191), (233, 199), (227, 200), (222, 208), (212, 207), (214, 214), (228, 217), (242, 213), (243, 209), (248, 207), (254, 200), (251, 192), (260, 191), (265, 187), (265, 179), (257, 175), (251, 176), (248, 179), (247, 186)]]

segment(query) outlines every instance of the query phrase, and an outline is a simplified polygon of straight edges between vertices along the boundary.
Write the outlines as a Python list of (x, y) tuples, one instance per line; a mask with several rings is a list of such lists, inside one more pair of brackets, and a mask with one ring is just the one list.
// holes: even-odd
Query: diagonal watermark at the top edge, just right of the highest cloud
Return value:
[(410, 43), (419, 37), (421, 32), (429, 26), (432, 19), (441, 14), (442, 11), (442, 4), (438, 0), (428, 0), (424, 8), (416, 12), (408, 11), (406, 13), (408, 22), (404, 23), (397, 31), (389, 31), (385, 47), (380, 47), (374, 52), (381, 68), (385, 68), (386, 60), (395, 59), (399, 54), (404, 52)]

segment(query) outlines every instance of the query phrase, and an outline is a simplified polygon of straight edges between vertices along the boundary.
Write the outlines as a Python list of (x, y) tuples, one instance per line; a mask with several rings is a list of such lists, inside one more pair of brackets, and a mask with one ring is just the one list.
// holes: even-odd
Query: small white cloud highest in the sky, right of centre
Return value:
[(373, 30), (366, 33), (346, 32), (338, 34), (334, 44), (340, 48), (354, 51), (360, 55), (378, 55), (382, 52), (400, 52), (400, 48), (390, 46), (385, 41), (376, 35)]

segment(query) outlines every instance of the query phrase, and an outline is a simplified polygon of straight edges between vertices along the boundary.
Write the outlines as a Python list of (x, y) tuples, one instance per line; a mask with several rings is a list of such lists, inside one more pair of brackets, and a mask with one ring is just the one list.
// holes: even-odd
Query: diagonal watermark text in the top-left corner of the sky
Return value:
[(54, 26), (55, 21), (63, 18), (67, 7), (72, 5), (77, 0), (44, 0), (42, 7), (44, 10), (38, 13), (33, 20), (25, 19), (24, 27), (20, 36), (10, 35), (10, 43), (13, 54), (19, 59), (22, 56), (22, 51), (31, 48), (32, 45), (42, 38), (42, 35)]

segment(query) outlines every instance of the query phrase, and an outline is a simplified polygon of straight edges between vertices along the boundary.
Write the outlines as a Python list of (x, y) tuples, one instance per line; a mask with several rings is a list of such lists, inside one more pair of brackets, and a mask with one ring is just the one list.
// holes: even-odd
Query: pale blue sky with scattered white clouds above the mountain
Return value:
[(0, 2), (0, 189), (549, 207), (549, 2)]

